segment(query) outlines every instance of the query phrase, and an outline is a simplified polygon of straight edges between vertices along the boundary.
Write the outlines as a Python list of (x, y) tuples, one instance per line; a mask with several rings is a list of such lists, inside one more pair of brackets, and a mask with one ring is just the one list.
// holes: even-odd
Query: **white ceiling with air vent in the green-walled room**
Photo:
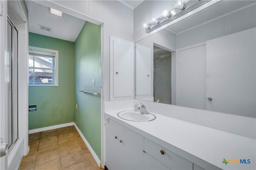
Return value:
[[(86, 21), (62, 14), (62, 17), (50, 14), (48, 7), (26, 0), (28, 8), (28, 31), (67, 41), (76, 41)], [(39, 29), (39, 24), (51, 27), (52, 32)]]

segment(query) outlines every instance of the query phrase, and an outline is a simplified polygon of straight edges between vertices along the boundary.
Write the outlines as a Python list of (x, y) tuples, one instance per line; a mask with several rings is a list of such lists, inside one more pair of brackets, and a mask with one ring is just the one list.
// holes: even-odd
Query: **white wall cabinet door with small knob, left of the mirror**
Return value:
[(110, 37), (110, 100), (134, 96), (134, 43)]

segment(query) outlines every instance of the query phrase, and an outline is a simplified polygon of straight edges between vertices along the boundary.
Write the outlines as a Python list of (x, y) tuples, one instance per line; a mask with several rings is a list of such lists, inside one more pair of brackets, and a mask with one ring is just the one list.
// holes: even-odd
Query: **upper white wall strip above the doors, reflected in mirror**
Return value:
[(177, 49), (253, 28), (256, 26), (255, 11), (255, 5), (249, 6), (217, 20), (177, 34)]

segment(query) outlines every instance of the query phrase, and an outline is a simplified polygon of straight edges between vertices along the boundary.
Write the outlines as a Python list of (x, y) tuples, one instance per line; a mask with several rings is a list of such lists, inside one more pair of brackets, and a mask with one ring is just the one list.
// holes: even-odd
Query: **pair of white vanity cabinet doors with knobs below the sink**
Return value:
[(116, 123), (106, 123), (106, 166), (109, 170), (143, 169), (144, 137)]

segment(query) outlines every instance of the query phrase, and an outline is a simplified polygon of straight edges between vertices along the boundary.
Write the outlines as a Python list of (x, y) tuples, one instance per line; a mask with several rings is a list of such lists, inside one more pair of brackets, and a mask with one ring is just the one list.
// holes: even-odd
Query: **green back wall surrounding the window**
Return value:
[(74, 122), (74, 43), (29, 33), (29, 45), (59, 51), (59, 86), (29, 86), (28, 128), (37, 129)]

